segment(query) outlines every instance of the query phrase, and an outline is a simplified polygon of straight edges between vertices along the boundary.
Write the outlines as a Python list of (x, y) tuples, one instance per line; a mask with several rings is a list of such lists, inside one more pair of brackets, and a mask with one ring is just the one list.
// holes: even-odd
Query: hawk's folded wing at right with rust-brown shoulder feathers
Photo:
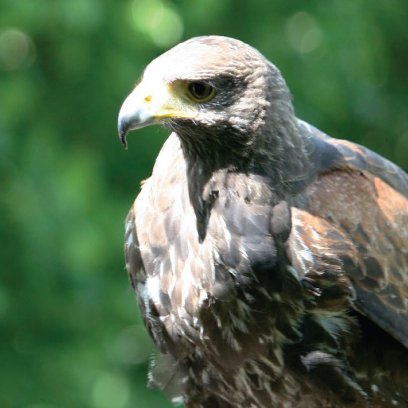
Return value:
[(368, 149), (324, 140), (349, 154), (295, 204), (293, 262), (321, 292), (320, 307), (354, 296), (356, 309), (408, 348), (408, 176)]

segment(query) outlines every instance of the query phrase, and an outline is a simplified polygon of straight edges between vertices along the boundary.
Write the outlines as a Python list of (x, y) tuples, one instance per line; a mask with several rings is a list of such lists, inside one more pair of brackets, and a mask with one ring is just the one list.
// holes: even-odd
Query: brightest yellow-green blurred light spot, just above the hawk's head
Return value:
[(184, 24), (179, 12), (161, 0), (133, 0), (132, 17), (136, 28), (148, 34), (159, 47), (174, 45), (183, 35)]

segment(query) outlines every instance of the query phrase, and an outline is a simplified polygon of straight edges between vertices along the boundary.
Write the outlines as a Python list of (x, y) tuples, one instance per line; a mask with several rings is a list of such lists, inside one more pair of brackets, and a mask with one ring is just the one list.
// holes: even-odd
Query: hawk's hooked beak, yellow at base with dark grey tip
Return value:
[(197, 113), (180, 97), (181, 89), (177, 83), (152, 84), (152, 81), (143, 80), (133, 90), (123, 102), (117, 121), (117, 131), (125, 149), (126, 136), (131, 130), (162, 123), (168, 118), (196, 117)]

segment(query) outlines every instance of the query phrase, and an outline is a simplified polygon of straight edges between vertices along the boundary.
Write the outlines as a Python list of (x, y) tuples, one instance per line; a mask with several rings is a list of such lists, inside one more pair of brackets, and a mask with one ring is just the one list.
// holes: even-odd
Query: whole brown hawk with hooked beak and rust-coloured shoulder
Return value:
[(156, 123), (125, 226), (150, 385), (188, 408), (407, 408), (408, 175), (298, 119), (231, 38), (147, 66), (119, 136)]

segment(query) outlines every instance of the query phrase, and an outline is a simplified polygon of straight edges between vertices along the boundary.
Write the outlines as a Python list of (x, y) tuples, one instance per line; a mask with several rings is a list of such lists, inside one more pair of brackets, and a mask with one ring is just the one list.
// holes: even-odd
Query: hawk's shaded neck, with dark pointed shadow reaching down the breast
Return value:
[(271, 205), (301, 193), (315, 177), (306, 148), (307, 135), (295, 123), (286, 123), (273, 131), (263, 130), (262, 142), (249, 143), (245, 149), (239, 143), (225, 149), (214, 142), (211, 146), (205, 142), (192, 143), (187, 136), (178, 136), (201, 242), (205, 238), (212, 205), (219, 190), (223, 189), (219, 186), (220, 181), (228, 174), (260, 176), (259, 180), (267, 184), (272, 193)]

